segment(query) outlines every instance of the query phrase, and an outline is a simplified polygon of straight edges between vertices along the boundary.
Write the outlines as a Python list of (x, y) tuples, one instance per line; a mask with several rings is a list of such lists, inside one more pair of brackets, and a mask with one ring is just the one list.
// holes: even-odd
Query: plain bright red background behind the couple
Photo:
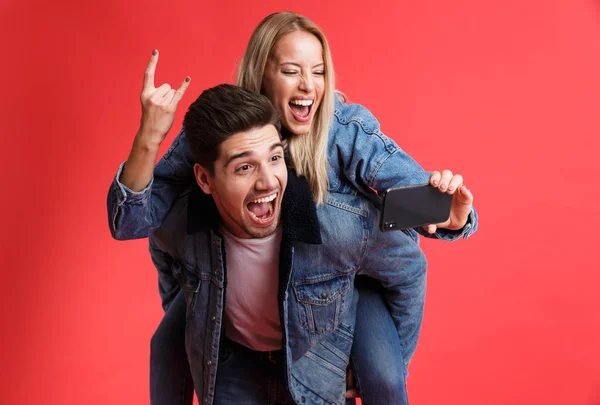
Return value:
[(190, 75), (187, 106), (286, 9), (324, 29), (351, 101), (475, 195), (470, 241), (423, 244), (411, 403), (600, 404), (600, 3), (320, 3), (2, 0), (0, 404), (148, 403), (156, 273), (105, 207), (144, 67), (156, 47), (157, 83)]

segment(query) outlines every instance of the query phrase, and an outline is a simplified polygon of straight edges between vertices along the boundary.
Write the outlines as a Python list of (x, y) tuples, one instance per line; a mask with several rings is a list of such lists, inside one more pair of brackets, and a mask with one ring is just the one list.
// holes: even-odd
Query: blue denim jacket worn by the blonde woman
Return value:
[[(379, 122), (360, 104), (345, 104), (336, 99), (334, 120), (328, 141), (329, 191), (362, 194), (375, 205), (379, 200), (373, 190), (424, 184), (429, 172), (392, 139), (381, 132)], [(149, 236), (160, 226), (175, 198), (195, 183), (194, 161), (183, 129), (154, 169), (150, 184), (133, 192), (119, 183), (119, 170), (108, 192), (109, 228), (115, 239), (127, 240)], [(438, 229), (427, 237), (445, 240), (467, 239), (477, 230), (477, 213), (459, 231)], [(414, 238), (418, 238), (414, 231)]]

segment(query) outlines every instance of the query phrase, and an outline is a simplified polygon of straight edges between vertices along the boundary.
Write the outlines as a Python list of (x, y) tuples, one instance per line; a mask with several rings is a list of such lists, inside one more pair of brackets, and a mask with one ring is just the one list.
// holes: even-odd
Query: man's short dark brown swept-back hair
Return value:
[(280, 132), (279, 113), (269, 99), (231, 84), (204, 90), (183, 119), (192, 157), (210, 174), (214, 174), (221, 143), (239, 132), (269, 124)]

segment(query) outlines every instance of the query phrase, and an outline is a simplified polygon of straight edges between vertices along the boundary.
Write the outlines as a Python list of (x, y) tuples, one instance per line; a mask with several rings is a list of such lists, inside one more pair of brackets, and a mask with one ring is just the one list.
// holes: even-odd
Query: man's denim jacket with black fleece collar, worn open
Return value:
[[(195, 187), (177, 199), (150, 237), (157, 268), (173, 274), (184, 291), (186, 349), (203, 404), (213, 403), (227, 288), (218, 218), (212, 197)], [(396, 244), (411, 247), (401, 259), (414, 267), (424, 266), (424, 255), (407, 234), (383, 237), (377, 210), (364, 198), (330, 193), (316, 207), (305, 179), (292, 171), (281, 221), (278, 304), (290, 393), (298, 404), (344, 404), (355, 275), (376, 278), (399, 294), (405, 275), (387, 270), (397, 259)]]

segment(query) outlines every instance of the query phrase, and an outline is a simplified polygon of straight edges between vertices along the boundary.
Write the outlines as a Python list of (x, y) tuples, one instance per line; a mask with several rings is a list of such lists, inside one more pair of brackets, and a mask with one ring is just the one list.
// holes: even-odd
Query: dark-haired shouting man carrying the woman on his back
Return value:
[(315, 207), (285, 167), (278, 125), (261, 95), (205, 91), (184, 127), (206, 194), (180, 196), (150, 240), (162, 279), (185, 294), (203, 404), (343, 403), (354, 277), (379, 279), (392, 294), (401, 283), (373, 270), (398, 250), (377, 231), (374, 207), (341, 194)]

